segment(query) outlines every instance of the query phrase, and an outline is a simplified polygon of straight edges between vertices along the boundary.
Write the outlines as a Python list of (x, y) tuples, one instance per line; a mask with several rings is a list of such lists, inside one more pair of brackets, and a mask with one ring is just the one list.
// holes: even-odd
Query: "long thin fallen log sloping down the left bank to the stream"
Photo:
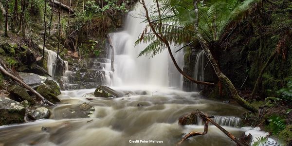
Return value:
[(9, 73), (8, 71), (5, 70), (5, 68), (3, 67), (5, 66), (3, 63), (0, 62), (0, 71), (2, 73), (4, 73), (5, 75), (9, 76), (11, 79), (17, 81), (18, 83), (20, 83), (23, 87), (25, 87), (27, 90), (35, 93), (37, 95), (37, 97), (43, 102), (46, 103), (50, 106), (56, 106), (55, 104), (51, 103), (50, 101), (48, 101), (47, 99), (45, 99), (41, 94), (39, 94), (36, 90), (34, 90), (32, 87), (28, 86), (26, 83), (24, 83), (22, 80), (20, 80), (18, 77), (12, 75), (11, 73)]

